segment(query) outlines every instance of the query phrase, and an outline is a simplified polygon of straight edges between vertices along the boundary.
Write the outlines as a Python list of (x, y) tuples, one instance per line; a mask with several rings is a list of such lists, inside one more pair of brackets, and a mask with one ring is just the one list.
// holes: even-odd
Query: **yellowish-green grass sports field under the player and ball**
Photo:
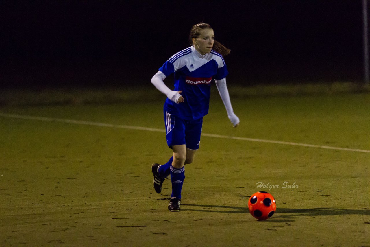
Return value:
[(171, 156), (154, 87), (3, 91), (1, 246), (370, 246), (369, 90), (229, 86), (238, 128), (212, 90), (180, 212), (152, 188)]

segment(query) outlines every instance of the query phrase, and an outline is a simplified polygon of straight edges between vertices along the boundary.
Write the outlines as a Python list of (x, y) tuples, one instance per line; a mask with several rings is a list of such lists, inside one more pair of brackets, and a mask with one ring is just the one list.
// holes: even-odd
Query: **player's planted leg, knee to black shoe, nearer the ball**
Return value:
[(186, 160), (186, 146), (174, 145), (172, 146), (174, 150), (174, 160), (170, 167), (170, 176), (172, 183), (172, 194), (171, 200), (168, 204), (169, 211), (179, 211), (180, 201), (181, 201), (181, 190), (182, 184), (185, 179), (185, 160)]

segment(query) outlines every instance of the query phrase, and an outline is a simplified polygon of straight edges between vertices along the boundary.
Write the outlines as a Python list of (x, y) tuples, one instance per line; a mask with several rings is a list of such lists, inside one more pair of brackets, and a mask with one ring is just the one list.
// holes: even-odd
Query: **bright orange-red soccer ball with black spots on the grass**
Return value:
[(259, 220), (266, 220), (273, 216), (276, 211), (274, 197), (265, 192), (259, 191), (250, 196), (248, 201), (249, 213)]

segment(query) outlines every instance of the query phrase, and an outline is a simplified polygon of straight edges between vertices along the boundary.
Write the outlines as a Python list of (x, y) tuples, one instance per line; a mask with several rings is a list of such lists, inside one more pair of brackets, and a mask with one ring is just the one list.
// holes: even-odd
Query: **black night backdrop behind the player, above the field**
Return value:
[(150, 83), (211, 24), (228, 81), (361, 81), (361, 0), (1, 1), (1, 87)]

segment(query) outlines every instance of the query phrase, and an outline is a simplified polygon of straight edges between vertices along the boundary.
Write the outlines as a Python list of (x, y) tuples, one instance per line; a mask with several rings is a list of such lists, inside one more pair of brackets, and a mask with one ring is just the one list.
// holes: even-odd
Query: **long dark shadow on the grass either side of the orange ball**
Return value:
[[(233, 206), (220, 206), (220, 205), (198, 205), (198, 204), (181, 204), (185, 206), (181, 208), (181, 211), (199, 211), (209, 213), (249, 213), (247, 207), (233, 207)], [(194, 208), (193, 208), (194, 207)], [(223, 210), (225, 209), (225, 210)], [(298, 216), (338, 216), (338, 215), (370, 215), (370, 209), (343, 209), (343, 208), (277, 208), (276, 214), (270, 221), (274, 222), (287, 222)], [(363, 224), (370, 224), (365, 222)]]

